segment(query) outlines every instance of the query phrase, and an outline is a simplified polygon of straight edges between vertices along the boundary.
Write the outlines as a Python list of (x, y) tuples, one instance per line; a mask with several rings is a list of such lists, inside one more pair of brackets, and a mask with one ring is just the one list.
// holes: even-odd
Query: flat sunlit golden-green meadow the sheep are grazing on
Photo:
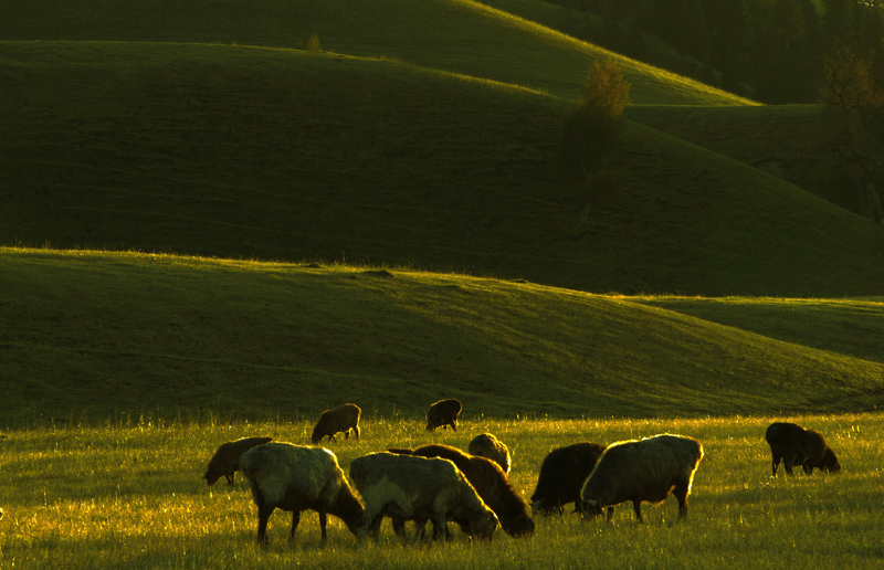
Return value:
[[(777, 416), (776, 419), (782, 419)], [(465, 447), (476, 433), (497, 434), (513, 450), (511, 479), (526, 498), (551, 448), (578, 441), (611, 443), (670, 432), (702, 441), (688, 517), (675, 500), (645, 505), (645, 524), (617, 508), (611, 525), (576, 515), (537, 518), (533, 538), (498, 531), (469, 543), (452, 528), (442, 545), (403, 545), (382, 527), (378, 546), (355, 546), (329, 517), (319, 543), (315, 513), (302, 517), (294, 545), (291, 516), (270, 520), (271, 543), (254, 545), (255, 507), (241, 476), (234, 487), (201, 481), (217, 445), (266, 434), (304, 443), (312, 419), (171, 422), (151, 418), (98, 426), (32, 428), (0, 442), (0, 564), (4, 568), (874, 568), (884, 556), (880, 413), (788, 418), (825, 434), (840, 474), (770, 477), (768, 416), (682, 420), (466, 420), (456, 433), (428, 434), (419, 420), (368, 416), (362, 440), (332, 444), (349, 462), (388, 446), (439, 441)]]

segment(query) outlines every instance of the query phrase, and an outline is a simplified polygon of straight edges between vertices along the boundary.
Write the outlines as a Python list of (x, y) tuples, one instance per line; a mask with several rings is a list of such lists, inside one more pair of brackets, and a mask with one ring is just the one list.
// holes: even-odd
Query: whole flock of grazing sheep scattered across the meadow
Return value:
[[(441, 400), (427, 414), (427, 429), (451, 425), (457, 429), (457, 400)], [(322, 414), (311, 437), (314, 445), (272, 442), (270, 437), (243, 437), (222, 444), (209, 462), (203, 478), (209, 485), (222, 475), (233, 484), (241, 471), (257, 506), (257, 541), (267, 543), (267, 520), (280, 508), (292, 513), (290, 540), (294, 538), (301, 511), (319, 514), (322, 539), (326, 539), (328, 515), (341, 519), (356, 535), (379, 537), (385, 517), (404, 537), (406, 522), (415, 522), (424, 536), (429, 521), (433, 539), (450, 538), (448, 521), (456, 522), (474, 538), (491, 539), (499, 527), (512, 537), (529, 537), (535, 524), (528, 505), (507, 479), (511, 458), (505, 444), (492, 434), (470, 443), (469, 453), (449, 445), (431, 444), (413, 450), (390, 448), (369, 453), (350, 463), (350, 486), (337, 457), (316, 445), (335, 434), (359, 437), (361, 410), (347, 403)], [(780, 462), (786, 472), (801, 466), (838, 472), (841, 466), (821, 434), (792, 423), (774, 423), (766, 433), (777, 475)], [(608, 446), (577, 443), (551, 451), (540, 466), (532, 508), (538, 514), (562, 513), (573, 503), (575, 511), (599, 516), (615, 505), (631, 502), (639, 521), (641, 504), (661, 503), (670, 494), (678, 502), (678, 517), (687, 514), (687, 496), (694, 473), (703, 458), (703, 445), (691, 437), (662, 434)], [(360, 500), (361, 497), (361, 500)]]

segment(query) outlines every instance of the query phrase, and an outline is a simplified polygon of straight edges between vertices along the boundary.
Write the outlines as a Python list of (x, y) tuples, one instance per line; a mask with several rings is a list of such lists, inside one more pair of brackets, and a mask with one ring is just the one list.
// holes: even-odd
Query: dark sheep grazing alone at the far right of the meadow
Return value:
[(841, 471), (835, 453), (820, 432), (804, 430), (793, 423), (775, 422), (765, 432), (765, 440), (770, 445), (774, 477), (777, 476), (780, 460), (786, 460), (786, 473), (789, 475), (792, 474), (792, 465), (801, 465), (808, 475), (813, 467), (829, 473)]

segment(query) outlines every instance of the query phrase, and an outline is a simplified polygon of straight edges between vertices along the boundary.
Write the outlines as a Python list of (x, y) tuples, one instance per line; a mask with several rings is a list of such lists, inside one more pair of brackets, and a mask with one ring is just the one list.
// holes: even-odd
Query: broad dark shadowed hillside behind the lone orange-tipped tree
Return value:
[(884, 230), (635, 124), (623, 190), (577, 228), (586, 197), (551, 166), (566, 103), (534, 92), (223, 45), (12, 42), (4, 62), (7, 243), (410, 263), (600, 292), (884, 282)]

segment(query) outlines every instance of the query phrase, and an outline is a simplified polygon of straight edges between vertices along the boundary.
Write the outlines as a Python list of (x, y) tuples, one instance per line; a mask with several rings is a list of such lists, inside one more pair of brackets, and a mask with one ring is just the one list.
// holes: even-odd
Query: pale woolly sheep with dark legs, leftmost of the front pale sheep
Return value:
[(356, 535), (362, 505), (330, 451), (283, 442), (266, 443), (245, 452), (240, 467), (257, 506), (259, 545), (267, 545), (267, 520), (276, 508), (292, 513), (290, 541), (295, 538), (301, 511), (307, 509), (319, 513), (323, 542), (327, 539), (328, 514), (341, 519)]

